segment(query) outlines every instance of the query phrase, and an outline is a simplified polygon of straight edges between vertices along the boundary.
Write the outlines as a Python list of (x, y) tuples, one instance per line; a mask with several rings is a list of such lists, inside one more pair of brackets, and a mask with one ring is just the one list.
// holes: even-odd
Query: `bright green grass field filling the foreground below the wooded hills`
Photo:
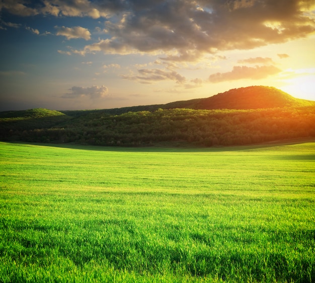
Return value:
[(0, 143), (0, 282), (314, 282), (315, 143)]

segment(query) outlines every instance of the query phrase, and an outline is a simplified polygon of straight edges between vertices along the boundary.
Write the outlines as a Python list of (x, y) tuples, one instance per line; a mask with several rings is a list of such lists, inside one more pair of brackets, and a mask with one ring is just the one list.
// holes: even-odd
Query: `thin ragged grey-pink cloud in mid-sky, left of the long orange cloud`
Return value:
[(140, 76), (122, 76), (123, 79), (138, 81), (142, 84), (151, 84), (157, 81), (175, 81), (178, 84), (185, 83), (186, 78), (175, 71), (165, 71), (162, 69), (139, 69)]

